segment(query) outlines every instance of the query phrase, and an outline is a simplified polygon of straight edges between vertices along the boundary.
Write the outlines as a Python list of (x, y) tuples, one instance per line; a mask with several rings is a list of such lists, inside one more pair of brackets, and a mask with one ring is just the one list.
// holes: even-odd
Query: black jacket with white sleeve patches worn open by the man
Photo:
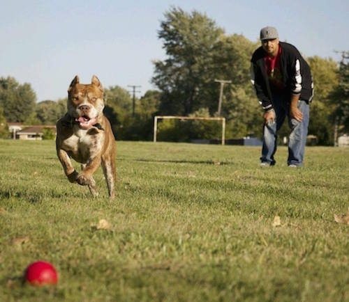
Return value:
[[(291, 95), (300, 95), (299, 100), (311, 102), (313, 98), (313, 79), (311, 70), (296, 47), (285, 42), (281, 46), (281, 74), (285, 89), (282, 97), (290, 102)], [(265, 67), (265, 51), (259, 47), (251, 58), (251, 82), (260, 104), (266, 111), (273, 108), (272, 90)]]

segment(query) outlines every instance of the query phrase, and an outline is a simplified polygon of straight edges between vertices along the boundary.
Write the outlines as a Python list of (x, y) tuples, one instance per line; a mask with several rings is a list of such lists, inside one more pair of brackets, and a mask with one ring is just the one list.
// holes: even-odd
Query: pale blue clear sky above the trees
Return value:
[(349, 2), (343, 0), (0, 0), (0, 77), (29, 83), (37, 101), (67, 96), (70, 81), (136, 88), (151, 84), (154, 60), (164, 60), (158, 39), (172, 7), (207, 15), (226, 35), (257, 42), (275, 26), (282, 41), (304, 56), (340, 61), (349, 51)]

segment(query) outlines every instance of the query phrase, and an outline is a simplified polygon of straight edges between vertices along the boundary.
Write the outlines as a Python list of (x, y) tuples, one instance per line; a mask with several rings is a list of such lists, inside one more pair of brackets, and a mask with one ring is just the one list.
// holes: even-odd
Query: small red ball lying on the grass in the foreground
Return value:
[(57, 271), (49, 262), (33, 262), (25, 271), (25, 280), (34, 286), (56, 285)]

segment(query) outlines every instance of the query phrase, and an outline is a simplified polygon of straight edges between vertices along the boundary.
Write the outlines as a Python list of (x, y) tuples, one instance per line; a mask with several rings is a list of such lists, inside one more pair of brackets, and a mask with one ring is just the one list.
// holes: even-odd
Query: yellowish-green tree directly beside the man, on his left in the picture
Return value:
[(262, 109), (250, 80), (250, 60), (256, 47), (243, 35), (235, 34), (223, 37), (214, 49), (216, 77), (232, 81), (225, 89), (222, 104), (230, 137), (260, 134)]

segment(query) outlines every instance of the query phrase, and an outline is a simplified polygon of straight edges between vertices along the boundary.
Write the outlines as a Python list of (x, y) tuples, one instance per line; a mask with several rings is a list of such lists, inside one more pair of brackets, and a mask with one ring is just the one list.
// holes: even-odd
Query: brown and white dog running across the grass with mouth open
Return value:
[[(57, 122), (57, 156), (70, 182), (89, 186), (98, 196), (93, 174), (102, 165), (109, 197), (114, 198), (116, 181), (115, 138), (104, 116), (103, 87), (96, 76), (91, 84), (80, 84), (75, 77), (68, 88), (68, 112)], [(77, 173), (70, 157), (82, 164)]]

